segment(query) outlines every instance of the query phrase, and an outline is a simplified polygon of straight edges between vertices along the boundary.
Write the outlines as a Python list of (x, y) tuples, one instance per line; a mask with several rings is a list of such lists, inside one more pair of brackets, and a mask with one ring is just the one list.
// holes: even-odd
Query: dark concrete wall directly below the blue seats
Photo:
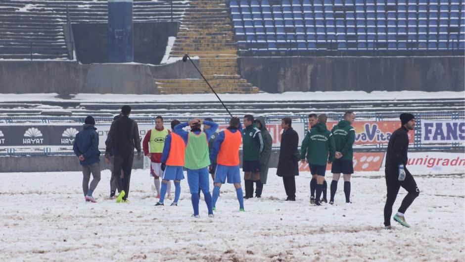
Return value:
[(463, 91), (464, 56), (239, 57), (249, 83), (285, 91)]

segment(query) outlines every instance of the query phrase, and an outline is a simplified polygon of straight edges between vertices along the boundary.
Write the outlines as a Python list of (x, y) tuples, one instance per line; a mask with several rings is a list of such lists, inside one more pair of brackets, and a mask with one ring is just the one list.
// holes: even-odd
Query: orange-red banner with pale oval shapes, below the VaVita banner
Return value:
[[(384, 159), (384, 152), (354, 152), (354, 171), (379, 171)], [(331, 164), (326, 165), (331, 170)], [(299, 171), (310, 171), (308, 163), (299, 162)]]

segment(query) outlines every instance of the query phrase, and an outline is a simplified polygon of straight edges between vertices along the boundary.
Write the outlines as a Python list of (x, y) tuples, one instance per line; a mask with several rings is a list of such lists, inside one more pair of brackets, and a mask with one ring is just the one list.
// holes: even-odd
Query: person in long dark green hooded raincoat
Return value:
[(262, 133), (264, 145), (263, 151), (260, 154), (260, 179), (259, 182), (257, 182), (257, 188), (255, 190), (255, 197), (260, 198), (262, 197), (263, 185), (267, 183), (268, 179), (268, 165), (270, 163), (271, 150), (273, 147), (273, 138), (267, 129), (265, 117), (257, 117), (257, 119), (254, 120), (254, 123)]

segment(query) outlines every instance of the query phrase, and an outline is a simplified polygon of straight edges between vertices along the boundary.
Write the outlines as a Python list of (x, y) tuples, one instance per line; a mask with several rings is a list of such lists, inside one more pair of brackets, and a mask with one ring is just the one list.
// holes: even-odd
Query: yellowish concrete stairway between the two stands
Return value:
[[(170, 56), (200, 58), (200, 70), (215, 91), (220, 93), (255, 93), (238, 75), (233, 27), (225, 0), (191, 0)], [(164, 94), (211, 92), (197, 79), (156, 79)]]

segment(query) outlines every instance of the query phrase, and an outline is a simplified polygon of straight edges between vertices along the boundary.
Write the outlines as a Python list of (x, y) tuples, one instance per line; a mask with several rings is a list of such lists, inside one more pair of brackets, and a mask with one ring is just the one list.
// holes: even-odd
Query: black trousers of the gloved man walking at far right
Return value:
[(420, 194), (417, 182), (415, 182), (414, 177), (407, 168), (405, 168), (405, 173), (404, 181), (399, 181), (397, 179), (399, 176), (397, 166), (386, 166), (385, 168), (387, 198), (384, 206), (384, 225), (386, 226), (391, 224), (392, 206), (396, 201), (400, 187), (403, 187), (408, 192), (398, 210), (401, 213), (405, 213)]

